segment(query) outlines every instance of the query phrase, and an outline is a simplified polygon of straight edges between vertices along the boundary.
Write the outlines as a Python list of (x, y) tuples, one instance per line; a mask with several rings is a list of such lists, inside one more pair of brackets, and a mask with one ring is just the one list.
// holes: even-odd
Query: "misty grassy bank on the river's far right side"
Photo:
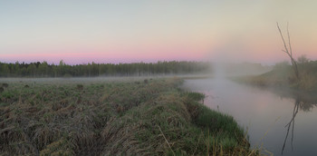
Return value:
[(277, 63), (271, 72), (257, 76), (235, 78), (242, 83), (251, 83), (264, 87), (278, 87), (303, 92), (317, 92), (317, 62), (298, 64), (300, 80), (297, 81), (293, 67), (288, 63)]

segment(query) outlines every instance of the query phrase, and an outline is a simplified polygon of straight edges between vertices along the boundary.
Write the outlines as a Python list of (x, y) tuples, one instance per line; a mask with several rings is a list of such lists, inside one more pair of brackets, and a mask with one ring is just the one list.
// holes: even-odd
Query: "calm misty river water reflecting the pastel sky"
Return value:
[(221, 79), (186, 80), (184, 87), (205, 93), (208, 107), (234, 116), (247, 129), (252, 146), (263, 144), (274, 155), (317, 155), (317, 95), (272, 92)]

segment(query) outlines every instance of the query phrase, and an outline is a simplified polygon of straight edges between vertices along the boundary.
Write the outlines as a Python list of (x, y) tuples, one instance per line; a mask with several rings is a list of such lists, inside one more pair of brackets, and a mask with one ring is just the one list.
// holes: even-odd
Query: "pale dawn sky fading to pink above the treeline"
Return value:
[[(317, 59), (315, 0), (0, 0), (0, 62)], [(286, 34), (285, 34), (286, 35)]]

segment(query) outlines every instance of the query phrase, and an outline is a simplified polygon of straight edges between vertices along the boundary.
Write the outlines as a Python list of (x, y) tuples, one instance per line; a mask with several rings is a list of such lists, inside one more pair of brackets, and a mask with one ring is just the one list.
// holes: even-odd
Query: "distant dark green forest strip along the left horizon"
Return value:
[(0, 77), (95, 77), (95, 76), (147, 76), (159, 74), (203, 73), (209, 63), (158, 62), (158, 63), (87, 63), (69, 65), (47, 62), (1, 63)]

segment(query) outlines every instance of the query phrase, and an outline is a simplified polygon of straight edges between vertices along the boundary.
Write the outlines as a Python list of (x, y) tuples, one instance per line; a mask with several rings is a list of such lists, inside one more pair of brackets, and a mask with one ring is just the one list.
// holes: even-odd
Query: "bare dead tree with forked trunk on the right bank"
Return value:
[(281, 37), (282, 37), (282, 40), (283, 40), (283, 44), (284, 44), (284, 49), (282, 51), (284, 53), (286, 53), (290, 57), (291, 63), (292, 63), (292, 66), (293, 66), (293, 71), (295, 73), (297, 81), (299, 81), (300, 80), (300, 73), (298, 72), (297, 63), (296, 63), (295, 59), (293, 59), (293, 51), (292, 51), (292, 46), (291, 46), (290, 32), (288, 30), (288, 23), (287, 23), (288, 47), (287, 47), (287, 44), (285, 43), (285, 40), (284, 40), (284, 37), (283, 37), (283, 34), (282, 34), (282, 31), (281, 31), (281, 28), (280, 28), (279, 24), (278, 23), (276, 23), (276, 24), (277, 24), (278, 31), (281, 34)]

